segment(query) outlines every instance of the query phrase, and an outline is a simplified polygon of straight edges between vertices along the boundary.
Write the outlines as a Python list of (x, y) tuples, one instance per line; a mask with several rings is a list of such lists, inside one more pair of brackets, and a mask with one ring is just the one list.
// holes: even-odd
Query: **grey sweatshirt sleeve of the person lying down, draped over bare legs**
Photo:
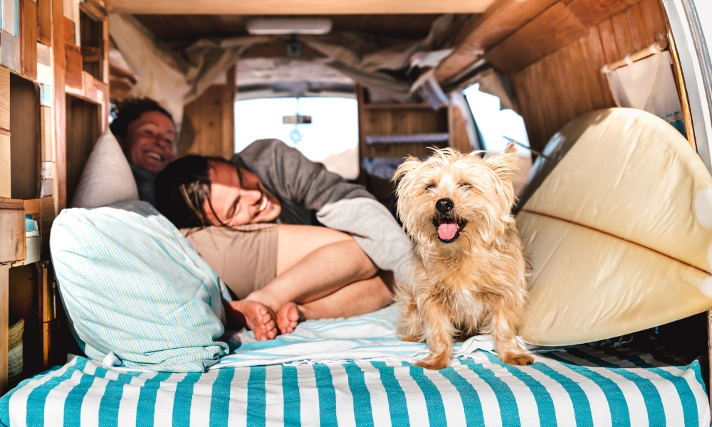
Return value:
[(410, 238), (363, 186), (347, 182), (277, 139), (253, 142), (232, 162), (254, 172), (282, 201), (283, 210), (299, 204), (317, 211), (320, 223), (354, 236), (378, 268), (392, 271), (397, 280), (407, 277)]

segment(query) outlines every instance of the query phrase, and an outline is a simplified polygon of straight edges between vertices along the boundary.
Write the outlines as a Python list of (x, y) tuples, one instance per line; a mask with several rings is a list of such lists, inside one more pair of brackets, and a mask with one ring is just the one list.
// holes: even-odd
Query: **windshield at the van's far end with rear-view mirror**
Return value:
[[(310, 124), (285, 125), (284, 116), (311, 116)], [(295, 132), (295, 129), (298, 132)], [(313, 162), (346, 179), (358, 176), (358, 107), (338, 97), (261, 98), (235, 102), (235, 152), (257, 139), (281, 139)], [(296, 141), (296, 142), (295, 142)]]

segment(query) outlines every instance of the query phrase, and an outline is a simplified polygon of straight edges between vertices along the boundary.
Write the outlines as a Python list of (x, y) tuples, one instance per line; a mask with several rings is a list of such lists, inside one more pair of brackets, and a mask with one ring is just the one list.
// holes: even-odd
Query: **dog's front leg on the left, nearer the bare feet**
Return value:
[(449, 367), (455, 327), (452, 325), (448, 313), (439, 302), (432, 300), (424, 301), (420, 306), (420, 312), (430, 355), (417, 362), (416, 366), (434, 370)]

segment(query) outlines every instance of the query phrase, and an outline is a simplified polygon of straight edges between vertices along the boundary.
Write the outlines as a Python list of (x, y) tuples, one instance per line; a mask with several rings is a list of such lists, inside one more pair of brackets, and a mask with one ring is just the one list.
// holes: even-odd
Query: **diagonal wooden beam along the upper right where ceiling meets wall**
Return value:
[(559, 0), (497, 0), (479, 19), (463, 29), (456, 51), (436, 68), (435, 78), (446, 80), (474, 63), (489, 48)]

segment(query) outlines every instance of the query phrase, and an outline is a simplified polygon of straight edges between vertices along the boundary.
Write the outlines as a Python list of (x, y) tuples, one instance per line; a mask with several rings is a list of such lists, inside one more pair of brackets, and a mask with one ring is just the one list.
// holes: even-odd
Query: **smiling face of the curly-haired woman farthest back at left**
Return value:
[(123, 145), (130, 164), (157, 174), (175, 157), (175, 142), (173, 122), (161, 112), (147, 111), (129, 123)]

